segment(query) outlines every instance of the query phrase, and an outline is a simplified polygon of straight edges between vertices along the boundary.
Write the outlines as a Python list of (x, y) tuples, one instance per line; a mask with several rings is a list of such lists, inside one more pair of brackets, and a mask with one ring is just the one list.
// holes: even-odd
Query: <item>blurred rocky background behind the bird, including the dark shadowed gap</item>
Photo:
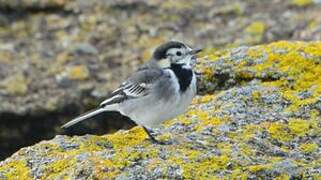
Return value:
[(129, 128), (114, 113), (70, 132), (152, 48), (320, 40), (319, 0), (0, 0), (0, 159), (59, 133)]

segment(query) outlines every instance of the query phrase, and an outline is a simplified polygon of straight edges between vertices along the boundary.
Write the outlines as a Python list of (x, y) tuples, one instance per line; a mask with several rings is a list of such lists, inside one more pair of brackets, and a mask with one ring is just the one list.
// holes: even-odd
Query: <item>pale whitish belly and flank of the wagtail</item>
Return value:
[[(172, 80), (177, 81), (176, 78), (173, 78)], [(133, 100), (133, 103), (130, 106), (135, 106), (134, 104), (140, 104), (141, 106), (136, 106), (136, 108), (131, 110), (128, 110), (125, 107), (122, 110), (122, 114), (131, 118), (138, 125), (152, 128), (184, 113), (195, 94), (196, 78), (194, 75), (189, 88), (184, 93), (180, 93), (178, 87), (173, 91), (173, 96), (169, 98), (169, 101), (152, 99), (148, 96), (140, 100)]]

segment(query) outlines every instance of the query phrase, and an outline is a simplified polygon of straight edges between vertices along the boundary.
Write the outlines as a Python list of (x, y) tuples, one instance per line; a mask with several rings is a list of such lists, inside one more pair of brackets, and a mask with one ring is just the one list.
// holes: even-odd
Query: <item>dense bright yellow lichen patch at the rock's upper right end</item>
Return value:
[[(282, 51), (278, 53), (276, 49)], [(292, 103), (288, 110), (297, 111), (299, 107), (315, 103), (321, 93), (321, 68), (317, 61), (310, 60), (320, 58), (320, 49), (321, 43), (318, 42), (280, 41), (267, 46), (258, 46), (248, 53), (251, 57), (267, 54), (267, 60), (251, 67), (256, 72), (256, 77), (260, 77), (262, 73), (271, 73), (271, 68), (287, 75), (286, 78), (268, 81), (263, 85), (280, 88), (282, 96)], [(304, 53), (310, 57), (305, 57)], [(311, 96), (305, 99), (299, 98), (298, 94), (304, 91), (310, 91)]]

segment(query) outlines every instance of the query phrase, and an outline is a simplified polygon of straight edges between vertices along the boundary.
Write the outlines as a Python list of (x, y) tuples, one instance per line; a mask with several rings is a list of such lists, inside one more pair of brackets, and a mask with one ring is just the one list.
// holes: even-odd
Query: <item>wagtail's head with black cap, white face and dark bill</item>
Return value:
[(161, 68), (169, 68), (171, 65), (190, 65), (196, 59), (200, 48), (192, 49), (179, 41), (169, 41), (159, 47), (153, 53), (153, 60)]

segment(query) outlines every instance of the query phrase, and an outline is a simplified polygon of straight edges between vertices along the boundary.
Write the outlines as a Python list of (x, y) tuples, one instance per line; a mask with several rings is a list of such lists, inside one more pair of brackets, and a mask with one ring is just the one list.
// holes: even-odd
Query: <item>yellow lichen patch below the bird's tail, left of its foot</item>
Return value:
[[(146, 133), (140, 127), (136, 127), (129, 132), (118, 132), (106, 136), (90, 136), (90, 138), (83, 141), (78, 148), (64, 152), (60, 152), (59, 148), (55, 146), (52, 147), (50, 144), (44, 144), (48, 146), (48, 149), (54, 149), (56, 151), (55, 156), (63, 157), (49, 166), (46, 166), (45, 177), (48, 175), (50, 175), (50, 178), (54, 179), (69, 177), (69, 168), (72, 168), (75, 165), (75, 156), (81, 153), (87, 153), (89, 155), (88, 160), (93, 163), (93, 171), (96, 178), (103, 179), (105, 177), (115, 177), (121, 173), (122, 168), (130, 166), (130, 164), (137, 159), (157, 157), (157, 149), (139, 152), (130, 148), (134, 147), (136, 144), (142, 145), (142, 142), (144, 142), (146, 138)], [(104, 144), (116, 151), (107, 159), (97, 159), (96, 156), (94, 156), (95, 152), (100, 152), (105, 148), (108, 148), (105, 147)], [(48, 152), (48, 156), (51, 155), (53, 154)]]

